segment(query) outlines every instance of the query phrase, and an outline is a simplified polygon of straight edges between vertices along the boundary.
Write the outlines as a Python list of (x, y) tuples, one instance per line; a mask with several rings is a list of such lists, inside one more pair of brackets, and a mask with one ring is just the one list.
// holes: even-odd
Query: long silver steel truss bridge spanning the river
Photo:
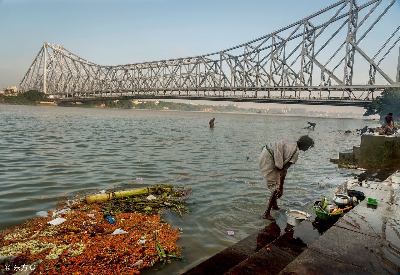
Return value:
[[(341, 0), (220, 52), (118, 66), (44, 43), (20, 89), (43, 91), (56, 102), (184, 98), (366, 106), (374, 92), (400, 87), (400, 24), (387, 23), (396, 7), (396, 0)], [(400, 23), (397, 15), (391, 19)], [(355, 75), (361, 84), (353, 83)]]

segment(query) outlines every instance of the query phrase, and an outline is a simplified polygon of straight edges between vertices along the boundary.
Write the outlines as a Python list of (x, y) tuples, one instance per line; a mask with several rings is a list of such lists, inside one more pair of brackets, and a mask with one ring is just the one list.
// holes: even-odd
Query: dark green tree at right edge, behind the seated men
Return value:
[(386, 116), (392, 112), (393, 116), (398, 118), (400, 116), (400, 88), (390, 87), (385, 88), (380, 96), (372, 100), (371, 104), (367, 107), (363, 116), (371, 116), (373, 114), (380, 114)]

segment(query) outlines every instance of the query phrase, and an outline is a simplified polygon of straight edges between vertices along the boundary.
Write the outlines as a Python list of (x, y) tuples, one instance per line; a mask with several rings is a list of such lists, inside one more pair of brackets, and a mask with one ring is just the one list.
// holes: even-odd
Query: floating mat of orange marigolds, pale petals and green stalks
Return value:
[[(62, 211), (64, 218), (38, 217), (0, 232), (0, 257), (6, 260), (0, 263), (0, 273), (6, 265), (14, 270), (22, 264), (35, 265), (32, 275), (139, 274), (160, 261), (163, 267), (170, 259), (181, 259), (181, 247), (176, 245), (180, 230), (162, 220), (161, 210), (171, 209), (181, 217), (189, 213), (179, 199), (186, 193), (171, 188), (154, 200), (146, 200), (146, 194), (90, 204), (82, 199), (60, 203), (60, 209), (70, 206)], [(106, 219), (91, 217), (101, 212)], [(60, 219), (57, 226), (48, 224)]]

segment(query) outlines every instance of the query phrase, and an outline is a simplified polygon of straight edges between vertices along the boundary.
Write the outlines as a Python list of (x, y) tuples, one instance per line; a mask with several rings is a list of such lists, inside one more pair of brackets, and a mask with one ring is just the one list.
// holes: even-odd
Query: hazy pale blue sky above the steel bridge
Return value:
[[(334, 2), (0, 0), (0, 88), (19, 85), (43, 42), (62, 45), (82, 58), (102, 65), (195, 56), (258, 38)], [(365, 2), (358, 1), (358, 4)], [(376, 26), (385, 40), (400, 23), (398, 12), (400, 1), (382, 19), (383, 25)], [(385, 24), (395, 27), (385, 28)], [(398, 34), (394, 41), (397, 37)], [(374, 44), (374, 41), (366, 41), (363, 49), (368, 50)], [(381, 44), (383, 42), (375, 45), (372, 51)], [(384, 62), (382, 66), (385, 66)], [(362, 82), (364, 80), (355, 74), (353, 83)], [(249, 103), (248, 106), (278, 107), (280, 104)], [(306, 105), (290, 106), (302, 108)], [(362, 108), (357, 107), (307, 108), (362, 112)]]

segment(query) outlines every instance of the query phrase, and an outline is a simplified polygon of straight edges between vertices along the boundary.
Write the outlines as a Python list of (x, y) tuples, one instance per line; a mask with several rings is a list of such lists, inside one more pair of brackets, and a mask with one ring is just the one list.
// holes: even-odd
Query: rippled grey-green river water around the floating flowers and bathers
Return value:
[[(208, 127), (212, 117), (215, 128)], [(310, 120), (317, 123), (314, 131), (303, 128)], [(88, 189), (190, 187), (193, 212), (185, 219), (164, 213), (184, 231), (178, 244), (185, 247), (185, 261), (173, 261), (158, 274), (186, 271), (269, 223), (262, 219), (269, 192), (258, 168), (267, 142), (303, 134), (315, 141), (288, 171), (281, 210), (273, 211), (280, 217), (360, 174), (329, 158), (360, 144), (354, 128), (379, 125), (347, 118), (13, 105), (0, 105), (0, 123), (0, 230)]]

